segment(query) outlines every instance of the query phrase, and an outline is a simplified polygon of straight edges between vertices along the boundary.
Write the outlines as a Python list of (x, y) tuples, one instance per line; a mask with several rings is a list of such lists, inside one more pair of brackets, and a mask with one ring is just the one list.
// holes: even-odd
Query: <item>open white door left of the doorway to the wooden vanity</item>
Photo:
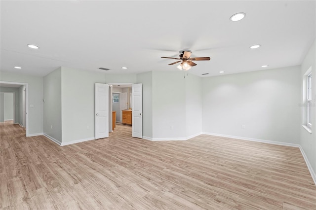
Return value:
[(109, 85), (94, 84), (94, 138), (109, 137)]

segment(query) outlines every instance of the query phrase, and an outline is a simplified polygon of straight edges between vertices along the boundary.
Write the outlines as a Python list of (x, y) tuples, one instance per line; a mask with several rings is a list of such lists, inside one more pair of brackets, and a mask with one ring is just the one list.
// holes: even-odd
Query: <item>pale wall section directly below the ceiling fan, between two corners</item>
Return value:
[(179, 71), (153, 71), (153, 140), (186, 139), (186, 79)]

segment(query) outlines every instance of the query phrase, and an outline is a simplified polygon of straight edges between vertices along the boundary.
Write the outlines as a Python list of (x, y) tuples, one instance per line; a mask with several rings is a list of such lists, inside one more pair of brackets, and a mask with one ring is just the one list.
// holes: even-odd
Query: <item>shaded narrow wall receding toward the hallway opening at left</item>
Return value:
[(43, 77), (43, 100), (43, 132), (61, 142), (61, 68)]

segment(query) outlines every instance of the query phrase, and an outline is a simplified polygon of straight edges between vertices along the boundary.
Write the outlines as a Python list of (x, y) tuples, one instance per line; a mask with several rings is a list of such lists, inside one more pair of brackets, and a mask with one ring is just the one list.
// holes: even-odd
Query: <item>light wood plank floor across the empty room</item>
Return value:
[(59, 146), (0, 124), (0, 209), (316, 209), (299, 148), (201, 135)]

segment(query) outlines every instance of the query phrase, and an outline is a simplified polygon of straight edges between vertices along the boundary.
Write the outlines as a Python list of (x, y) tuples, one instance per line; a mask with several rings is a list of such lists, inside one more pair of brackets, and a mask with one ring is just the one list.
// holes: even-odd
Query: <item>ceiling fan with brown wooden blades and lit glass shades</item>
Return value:
[(161, 57), (161, 58), (170, 58), (170, 59), (180, 60), (180, 61), (176, 61), (174, 63), (168, 64), (168, 65), (174, 65), (174, 64), (182, 62), (179, 66), (177, 66), (179, 70), (189, 70), (191, 69), (191, 67), (197, 66), (197, 64), (192, 61), (209, 61), (211, 59), (210, 57), (190, 58), (191, 54), (192, 52), (190, 51), (182, 51), (182, 54), (179, 55), (179, 58), (172, 58), (172, 57)]

